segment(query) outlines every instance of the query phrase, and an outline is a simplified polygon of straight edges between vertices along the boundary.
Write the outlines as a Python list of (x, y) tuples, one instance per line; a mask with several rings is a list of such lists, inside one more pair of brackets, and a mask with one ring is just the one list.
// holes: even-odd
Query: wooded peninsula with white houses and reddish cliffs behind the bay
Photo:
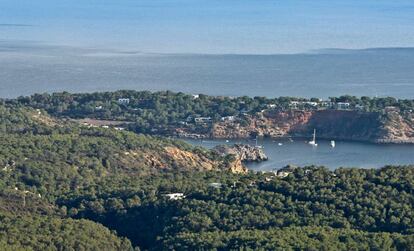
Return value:
[(341, 96), (223, 97), (117, 91), (5, 100), (87, 126), (182, 138), (309, 137), (414, 143), (414, 100)]

